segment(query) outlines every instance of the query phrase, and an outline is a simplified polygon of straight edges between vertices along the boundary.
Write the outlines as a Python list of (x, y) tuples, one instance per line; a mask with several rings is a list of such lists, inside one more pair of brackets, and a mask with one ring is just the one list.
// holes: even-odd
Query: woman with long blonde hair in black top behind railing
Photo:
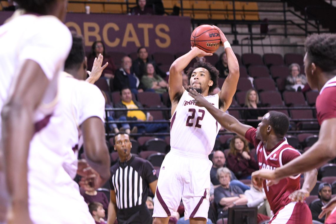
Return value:
[[(259, 96), (255, 89), (249, 89), (246, 93), (245, 97), (245, 105), (244, 107), (247, 108), (254, 108), (254, 109), (246, 109), (243, 110), (242, 117), (243, 119), (258, 119), (261, 121), (262, 116), (267, 113), (267, 110), (258, 109), (258, 107), (263, 107), (263, 105), (259, 102)], [(254, 128), (258, 127), (259, 122), (246, 122), (247, 125), (250, 125)]]

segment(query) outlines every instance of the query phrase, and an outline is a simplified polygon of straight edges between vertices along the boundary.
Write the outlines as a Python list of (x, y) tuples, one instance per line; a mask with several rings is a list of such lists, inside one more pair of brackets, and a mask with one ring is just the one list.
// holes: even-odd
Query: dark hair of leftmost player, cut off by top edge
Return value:
[(35, 12), (44, 15), (48, 5), (56, 0), (15, 0), (19, 8), (25, 9), (27, 12)]

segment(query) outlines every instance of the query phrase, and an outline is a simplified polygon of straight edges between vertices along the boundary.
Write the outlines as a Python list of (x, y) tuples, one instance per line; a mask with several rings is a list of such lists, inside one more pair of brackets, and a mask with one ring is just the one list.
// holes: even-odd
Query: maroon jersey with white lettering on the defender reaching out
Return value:
[[(300, 155), (300, 152), (288, 144), (286, 138), (271, 150), (266, 150), (263, 142), (256, 138), (256, 131), (257, 129), (250, 128), (246, 132), (245, 138), (253, 143), (256, 148), (260, 169), (275, 170)], [(263, 186), (270, 208), (275, 214), (279, 209), (291, 203), (288, 196), (293, 191), (300, 189), (300, 174), (284, 178), (278, 184), (269, 187), (266, 186), (266, 181), (264, 180)]]

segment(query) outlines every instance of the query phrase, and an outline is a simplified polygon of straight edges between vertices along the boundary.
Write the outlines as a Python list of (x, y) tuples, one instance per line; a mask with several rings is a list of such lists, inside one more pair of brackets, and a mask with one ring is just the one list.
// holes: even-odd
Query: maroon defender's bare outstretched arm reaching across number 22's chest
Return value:
[(246, 131), (252, 128), (249, 125), (240, 123), (236, 118), (224, 113), (222, 110), (215, 108), (196, 90), (189, 90), (189, 94), (195, 99), (194, 102), (197, 106), (205, 107), (226, 130), (245, 136)]

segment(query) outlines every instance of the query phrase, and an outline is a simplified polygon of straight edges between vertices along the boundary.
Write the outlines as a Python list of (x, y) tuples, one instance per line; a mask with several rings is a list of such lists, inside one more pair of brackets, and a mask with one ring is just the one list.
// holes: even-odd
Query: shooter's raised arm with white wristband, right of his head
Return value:
[(222, 110), (226, 111), (227, 108), (232, 103), (232, 98), (236, 93), (237, 84), (239, 80), (239, 64), (235, 53), (233, 52), (229, 42), (227, 41), (224, 33), (216, 26), (213, 26), (220, 35), (220, 39), (222, 44), (224, 45), (226, 57), (227, 57), (227, 66), (229, 69), (229, 75), (225, 79), (223, 86), (221, 86), (221, 90), (218, 93), (219, 99), (221, 99), (224, 103), (222, 106)]

